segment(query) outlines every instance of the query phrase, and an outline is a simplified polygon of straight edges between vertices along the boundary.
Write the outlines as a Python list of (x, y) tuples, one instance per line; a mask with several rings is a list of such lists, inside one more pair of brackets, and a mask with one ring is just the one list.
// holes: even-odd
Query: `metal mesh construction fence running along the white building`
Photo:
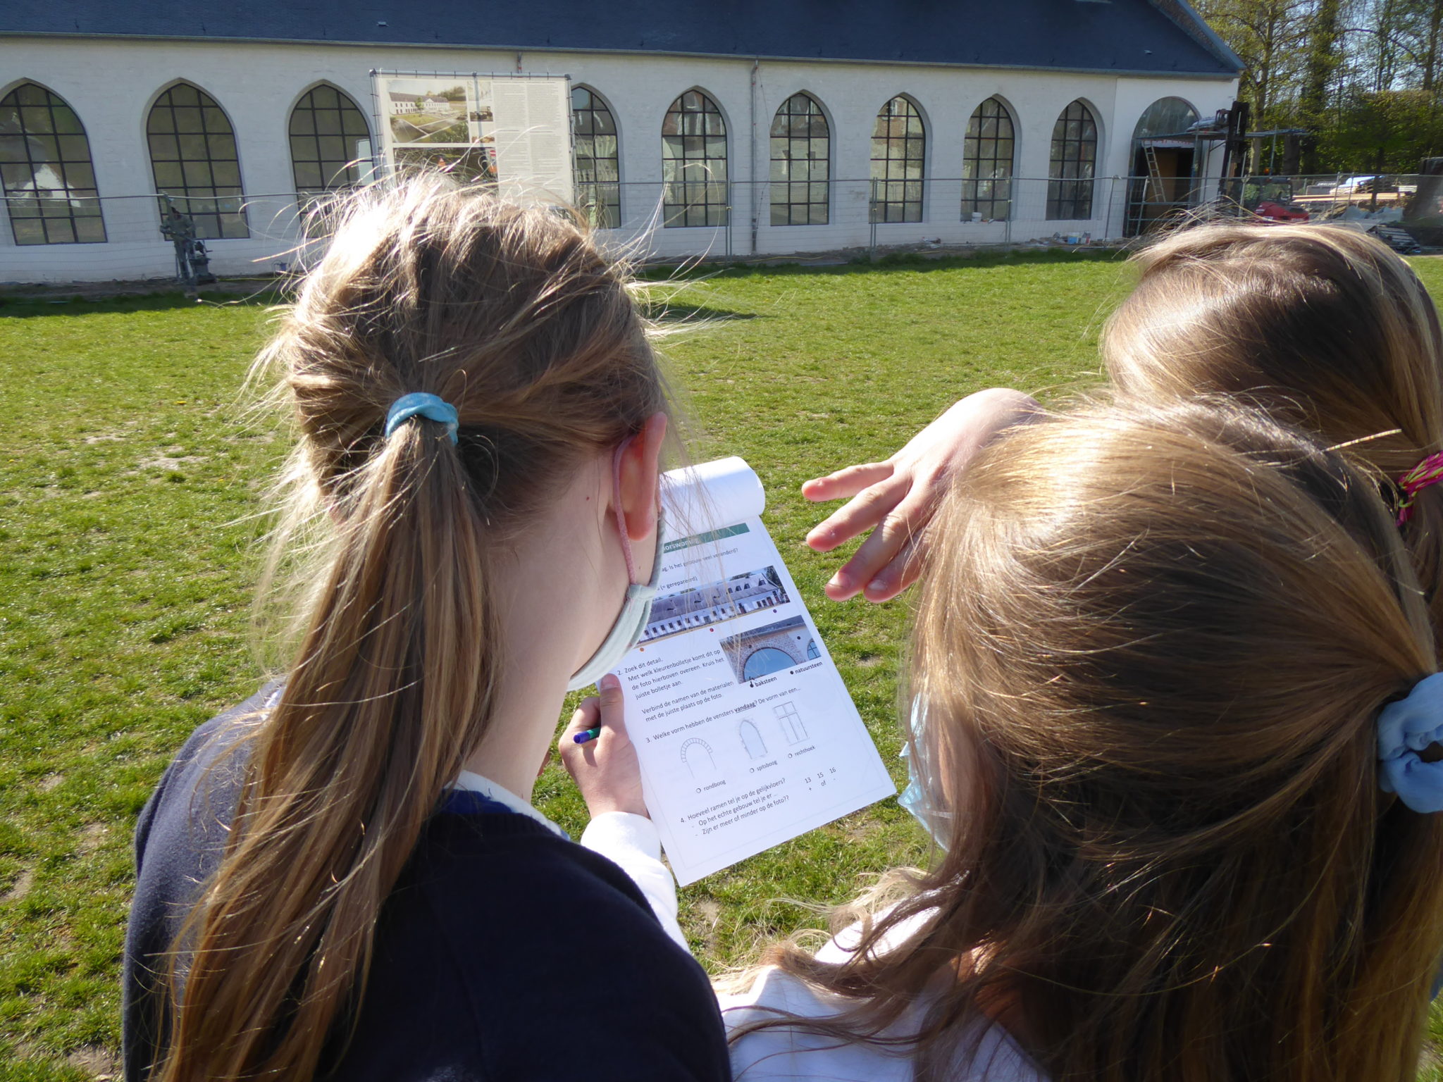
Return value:
[[(580, 185), (603, 241), (646, 261), (856, 258), (974, 245), (1101, 245), (1193, 215), (1343, 221), (1443, 244), (1436, 176), (993, 177)], [(326, 232), (325, 193), (10, 193), (0, 281), (165, 278), (189, 244), (225, 276), (304, 265)], [(1443, 222), (1440, 222), (1443, 225)]]

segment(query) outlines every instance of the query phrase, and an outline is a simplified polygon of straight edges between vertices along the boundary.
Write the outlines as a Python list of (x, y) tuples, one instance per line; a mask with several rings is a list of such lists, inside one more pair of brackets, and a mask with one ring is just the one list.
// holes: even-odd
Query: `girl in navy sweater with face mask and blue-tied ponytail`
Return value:
[(724, 1078), (615, 710), (563, 736), (583, 844), (530, 805), (655, 583), (668, 395), (625, 277), (573, 221), (408, 182), (260, 364), (293, 652), (141, 815), (128, 1082)]

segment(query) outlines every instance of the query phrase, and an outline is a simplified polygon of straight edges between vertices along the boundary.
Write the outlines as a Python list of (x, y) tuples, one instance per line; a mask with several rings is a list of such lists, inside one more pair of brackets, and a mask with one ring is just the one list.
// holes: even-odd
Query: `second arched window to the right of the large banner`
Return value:
[(662, 225), (726, 225), (726, 121), (701, 91), (687, 91), (661, 123)]

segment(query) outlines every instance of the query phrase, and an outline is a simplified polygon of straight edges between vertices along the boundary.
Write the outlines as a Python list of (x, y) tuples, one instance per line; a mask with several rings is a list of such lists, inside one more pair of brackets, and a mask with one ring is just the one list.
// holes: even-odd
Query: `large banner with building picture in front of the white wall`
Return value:
[(392, 172), (436, 169), (544, 206), (573, 198), (570, 97), (566, 76), (375, 72)]

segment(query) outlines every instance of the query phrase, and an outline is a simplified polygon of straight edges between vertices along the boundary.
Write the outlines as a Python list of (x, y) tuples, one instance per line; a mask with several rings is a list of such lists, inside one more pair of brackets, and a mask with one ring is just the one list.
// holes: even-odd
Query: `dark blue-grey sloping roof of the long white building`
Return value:
[[(1185, 0), (46, 0), (0, 33), (685, 53), (1235, 75)], [(381, 55), (378, 65), (384, 63)]]

